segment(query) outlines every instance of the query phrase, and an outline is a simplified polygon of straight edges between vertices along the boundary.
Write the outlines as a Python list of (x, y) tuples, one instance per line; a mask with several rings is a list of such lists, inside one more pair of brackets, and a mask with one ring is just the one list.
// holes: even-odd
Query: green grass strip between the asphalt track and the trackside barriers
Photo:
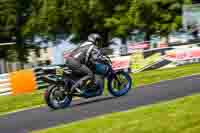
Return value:
[[(176, 68), (146, 71), (133, 74), (134, 87), (152, 84), (161, 80), (175, 79), (192, 74), (200, 74), (200, 64), (180, 66)], [(39, 106), (44, 104), (43, 91), (36, 93), (0, 97), (0, 114), (16, 111), (19, 109)]]

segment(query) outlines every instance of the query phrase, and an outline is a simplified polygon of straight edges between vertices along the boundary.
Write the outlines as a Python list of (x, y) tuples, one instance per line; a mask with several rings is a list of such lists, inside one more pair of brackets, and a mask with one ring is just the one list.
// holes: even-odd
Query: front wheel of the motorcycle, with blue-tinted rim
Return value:
[(127, 72), (116, 72), (108, 78), (108, 90), (116, 97), (123, 96), (129, 92), (132, 86), (132, 79)]

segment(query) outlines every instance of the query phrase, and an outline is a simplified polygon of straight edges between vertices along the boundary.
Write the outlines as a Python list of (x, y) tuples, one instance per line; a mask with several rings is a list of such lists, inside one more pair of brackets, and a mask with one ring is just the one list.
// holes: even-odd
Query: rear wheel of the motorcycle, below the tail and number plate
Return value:
[(72, 96), (61, 91), (62, 87), (61, 85), (50, 85), (45, 91), (44, 98), (51, 109), (63, 109), (70, 105)]

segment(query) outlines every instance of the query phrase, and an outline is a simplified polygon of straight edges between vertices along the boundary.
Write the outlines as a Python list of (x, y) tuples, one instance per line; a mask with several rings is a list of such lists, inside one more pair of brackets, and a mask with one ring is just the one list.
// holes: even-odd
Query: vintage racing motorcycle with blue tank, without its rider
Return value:
[(81, 88), (84, 93), (71, 89), (80, 76), (74, 75), (73, 70), (67, 66), (57, 65), (43, 68), (45, 75), (43, 80), (49, 83), (44, 95), (47, 105), (52, 109), (62, 109), (70, 105), (73, 97), (101, 96), (105, 89), (105, 81), (107, 81), (106, 88), (111, 95), (120, 97), (127, 94), (132, 86), (129, 71), (127, 69), (114, 70), (108, 56), (103, 55), (101, 58), (105, 60), (95, 66), (95, 84), (85, 83)]

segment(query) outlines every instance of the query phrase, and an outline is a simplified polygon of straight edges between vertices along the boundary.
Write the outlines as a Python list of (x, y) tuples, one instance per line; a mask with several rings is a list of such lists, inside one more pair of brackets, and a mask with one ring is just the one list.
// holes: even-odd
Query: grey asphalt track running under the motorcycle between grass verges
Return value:
[(71, 107), (63, 110), (52, 111), (42, 107), (1, 116), (0, 133), (28, 133), (195, 93), (200, 93), (200, 75), (139, 87), (119, 98), (108, 96), (76, 100)]

